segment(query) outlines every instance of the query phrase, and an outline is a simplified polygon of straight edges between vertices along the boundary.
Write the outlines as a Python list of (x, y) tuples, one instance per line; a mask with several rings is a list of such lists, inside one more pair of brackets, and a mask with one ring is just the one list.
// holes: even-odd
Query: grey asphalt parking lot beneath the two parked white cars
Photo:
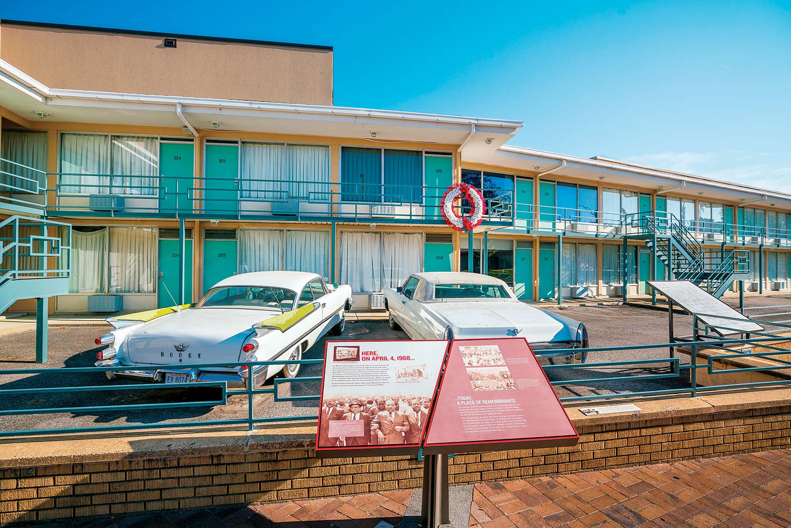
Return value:
[[(791, 303), (791, 298), (772, 298), (771, 302), (751, 298), (748, 304), (764, 306)], [(737, 302), (737, 301), (736, 301)], [(732, 299), (729, 300), (732, 304)], [(668, 316), (662, 310), (650, 310), (632, 306), (607, 304), (602, 306), (572, 306), (558, 311), (566, 317), (582, 321), (589, 329), (592, 347), (632, 347), (641, 344), (661, 344), (668, 341)], [(347, 340), (403, 340), (407, 336), (401, 331), (389, 329), (386, 321), (355, 321), (352, 315), (347, 319), (343, 336), (332, 339)], [(691, 317), (676, 315), (677, 334), (691, 332)], [(8, 374), (0, 376), (0, 389), (27, 389), (30, 392), (13, 394), (0, 399), (0, 410), (40, 408), (90, 407), (97, 405), (141, 405), (147, 403), (187, 403), (205, 401), (214, 397), (206, 389), (191, 387), (185, 389), (140, 389), (118, 391), (113, 387), (133, 382), (108, 382), (103, 373), (58, 374), (48, 370), (59, 367), (91, 367), (96, 352), (102, 347), (93, 344), (93, 339), (107, 332), (108, 325), (86, 325), (49, 328), (49, 360), (45, 365), (32, 363), (35, 350), (35, 332), (21, 332), (12, 336), (0, 337), (0, 369), (41, 368), (35, 374)], [(528, 336), (529, 340), (529, 336)], [(304, 359), (321, 359), (324, 355), (324, 340), (320, 340), (303, 356)], [(588, 363), (643, 360), (667, 358), (667, 348), (649, 350), (625, 349), (621, 351), (591, 352)], [(569, 379), (606, 378), (625, 375), (667, 373), (667, 364), (629, 365), (625, 367), (585, 367), (551, 370), (552, 381)], [(320, 376), (320, 365), (305, 365), (300, 376)], [(48, 387), (108, 386), (100, 392), (74, 391), (69, 393), (40, 393), (36, 389)], [(266, 384), (272, 386), (272, 380)], [(683, 378), (659, 380), (635, 380), (633, 382), (595, 382), (591, 384), (556, 386), (561, 397), (586, 396), (600, 393), (638, 392), (654, 389), (687, 387)], [(292, 386), (281, 386), (282, 394), (310, 395), (319, 392), (319, 382), (304, 382)], [(310, 416), (316, 413), (318, 402), (279, 401), (275, 402), (270, 394), (259, 394), (254, 399), (254, 416)], [(171, 421), (227, 420), (247, 418), (248, 403), (246, 395), (229, 397), (226, 405), (200, 405), (195, 407), (123, 409), (112, 411), (58, 412), (51, 414), (16, 414), (4, 416), (0, 420), (2, 431), (25, 431), (34, 429), (66, 429), (68, 427), (93, 427), (105, 425), (161, 424)]]

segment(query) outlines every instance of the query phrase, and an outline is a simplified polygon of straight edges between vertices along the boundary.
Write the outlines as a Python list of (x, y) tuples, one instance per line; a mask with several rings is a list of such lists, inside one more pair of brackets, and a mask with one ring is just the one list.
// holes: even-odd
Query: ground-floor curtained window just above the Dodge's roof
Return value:
[(239, 230), (239, 272), (316, 273), (329, 279), (330, 233), (326, 230)]

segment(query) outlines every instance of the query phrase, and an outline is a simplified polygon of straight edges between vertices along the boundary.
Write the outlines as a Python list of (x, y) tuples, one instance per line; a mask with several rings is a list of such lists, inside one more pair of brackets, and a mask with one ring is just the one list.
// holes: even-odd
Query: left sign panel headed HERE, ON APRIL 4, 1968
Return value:
[(417, 454), (448, 341), (327, 341), (316, 456)]

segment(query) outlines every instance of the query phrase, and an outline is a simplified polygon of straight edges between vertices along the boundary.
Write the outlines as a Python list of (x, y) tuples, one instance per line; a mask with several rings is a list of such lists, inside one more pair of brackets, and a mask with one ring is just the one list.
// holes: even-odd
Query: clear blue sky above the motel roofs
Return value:
[(327, 44), (337, 105), (524, 120), (511, 144), (791, 192), (791, 0), (137, 5), (0, 17)]

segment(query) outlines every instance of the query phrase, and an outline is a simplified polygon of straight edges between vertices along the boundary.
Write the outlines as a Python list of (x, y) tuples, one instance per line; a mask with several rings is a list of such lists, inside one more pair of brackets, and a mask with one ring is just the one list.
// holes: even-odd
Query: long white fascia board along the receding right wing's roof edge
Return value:
[(685, 175), (682, 173), (674, 173), (671, 171), (666, 172), (661, 169), (641, 169), (638, 167), (631, 167), (629, 165), (623, 165), (622, 163), (617, 163), (612, 161), (600, 161), (590, 158), (579, 158), (577, 156), (566, 156), (565, 154), (556, 154), (554, 152), (545, 152), (543, 150), (528, 149), (521, 146), (504, 145), (500, 147), (500, 150), (513, 154), (522, 154), (525, 157), (528, 157), (529, 159), (536, 159), (536, 161), (538, 161), (537, 158), (540, 158), (543, 160), (548, 159), (559, 163), (561, 160), (565, 159), (567, 166), (577, 167), (579, 169), (589, 169), (589, 170), (596, 169), (601, 172), (619, 173), (623, 176), (632, 176), (632, 177), (634, 177), (635, 175), (642, 175), (648, 177), (661, 178), (664, 180), (672, 180), (678, 182), (683, 181), (686, 182), (687, 184), (699, 185), (701, 186), (701, 188), (717, 188), (717, 190), (721, 190), (725, 192), (751, 194), (751, 195), (755, 195), (756, 198), (760, 198), (766, 195), (777, 199), (791, 200), (791, 195), (786, 194), (785, 192), (770, 191), (769, 189), (749, 187), (746, 185), (735, 184), (728, 181), (713, 180), (711, 178)]

